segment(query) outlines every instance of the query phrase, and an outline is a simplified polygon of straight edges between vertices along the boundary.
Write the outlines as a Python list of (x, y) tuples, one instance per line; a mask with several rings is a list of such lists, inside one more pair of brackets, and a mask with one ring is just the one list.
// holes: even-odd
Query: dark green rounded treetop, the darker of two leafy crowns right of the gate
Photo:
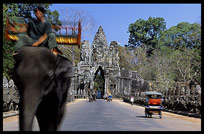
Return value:
[(166, 23), (161, 17), (149, 17), (147, 21), (139, 19), (129, 25), (128, 32), (130, 35), (126, 47), (134, 49), (146, 44), (149, 47), (147, 53), (151, 55), (153, 49), (157, 47), (161, 32), (165, 29)]

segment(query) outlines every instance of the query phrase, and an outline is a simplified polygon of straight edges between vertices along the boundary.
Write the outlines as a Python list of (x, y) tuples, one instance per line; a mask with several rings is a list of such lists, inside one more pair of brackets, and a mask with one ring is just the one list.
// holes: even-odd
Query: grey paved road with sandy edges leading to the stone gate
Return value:
[[(18, 116), (3, 120), (3, 131), (18, 131)], [(33, 131), (39, 131), (36, 119)], [(59, 131), (201, 131), (201, 119), (162, 112), (144, 116), (144, 107), (114, 99), (76, 100), (67, 104)]]

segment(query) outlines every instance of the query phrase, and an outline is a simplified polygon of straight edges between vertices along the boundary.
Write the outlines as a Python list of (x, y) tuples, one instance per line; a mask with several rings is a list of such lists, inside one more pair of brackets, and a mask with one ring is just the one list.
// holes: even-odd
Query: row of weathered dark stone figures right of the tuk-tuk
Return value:
[(176, 83), (173, 88), (164, 92), (163, 106), (165, 109), (189, 113), (201, 112), (201, 87)]

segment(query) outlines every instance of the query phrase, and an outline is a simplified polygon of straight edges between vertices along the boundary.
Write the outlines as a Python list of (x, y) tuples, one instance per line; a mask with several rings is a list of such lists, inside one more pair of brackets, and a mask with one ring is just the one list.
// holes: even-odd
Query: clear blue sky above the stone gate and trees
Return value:
[[(92, 44), (99, 26), (102, 26), (108, 45), (117, 41), (121, 46), (128, 43), (128, 26), (138, 19), (163, 17), (166, 28), (176, 26), (180, 22), (195, 23), (201, 21), (201, 4), (53, 4), (51, 10), (79, 9), (94, 17), (96, 27), (91, 36), (83, 36)], [(82, 33), (83, 34), (83, 33)]]

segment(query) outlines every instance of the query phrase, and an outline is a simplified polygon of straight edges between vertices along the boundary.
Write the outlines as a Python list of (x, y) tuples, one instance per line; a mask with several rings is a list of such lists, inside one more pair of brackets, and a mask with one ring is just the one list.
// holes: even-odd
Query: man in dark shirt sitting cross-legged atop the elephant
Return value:
[(30, 20), (27, 27), (17, 30), (9, 25), (11, 32), (18, 33), (19, 40), (15, 44), (15, 50), (18, 51), (23, 46), (43, 46), (49, 48), (55, 55), (62, 54), (57, 48), (56, 36), (52, 32), (51, 23), (45, 18), (45, 9), (38, 6), (34, 9), (34, 13), (37, 20)]

